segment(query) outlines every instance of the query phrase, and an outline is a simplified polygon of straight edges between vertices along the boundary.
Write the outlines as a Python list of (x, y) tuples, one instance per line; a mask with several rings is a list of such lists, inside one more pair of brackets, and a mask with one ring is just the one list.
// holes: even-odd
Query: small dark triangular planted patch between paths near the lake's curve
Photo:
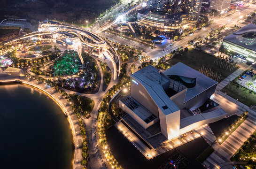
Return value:
[(78, 106), (78, 108), (81, 110), (82, 115), (85, 117), (85, 115), (90, 114), (94, 107), (94, 101), (90, 98), (87, 98), (82, 95), (76, 95), (76, 94), (69, 94), (70, 98), (74, 101), (74, 103)]

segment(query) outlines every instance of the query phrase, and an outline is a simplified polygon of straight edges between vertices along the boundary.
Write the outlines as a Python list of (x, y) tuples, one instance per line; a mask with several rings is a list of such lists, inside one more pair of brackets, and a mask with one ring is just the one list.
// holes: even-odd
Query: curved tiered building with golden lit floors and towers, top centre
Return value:
[(149, 0), (148, 8), (138, 11), (138, 21), (162, 31), (176, 31), (183, 24), (197, 23), (202, 0)]

